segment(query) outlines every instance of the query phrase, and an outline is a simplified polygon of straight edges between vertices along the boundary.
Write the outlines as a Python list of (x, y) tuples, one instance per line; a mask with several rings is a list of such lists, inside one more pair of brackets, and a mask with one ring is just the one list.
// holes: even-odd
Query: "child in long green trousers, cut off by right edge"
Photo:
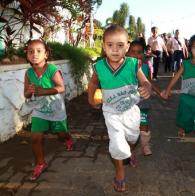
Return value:
[(167, 89), (161, 93), (163, 98), (168, 99), (171, 89), (182, 77), (181, 94), (176, 116), (179, 137), (184, 137), (185, 133), (195, 131), (195, 35), (190, 38), (189, 52), (191, 57), (183, 61)]

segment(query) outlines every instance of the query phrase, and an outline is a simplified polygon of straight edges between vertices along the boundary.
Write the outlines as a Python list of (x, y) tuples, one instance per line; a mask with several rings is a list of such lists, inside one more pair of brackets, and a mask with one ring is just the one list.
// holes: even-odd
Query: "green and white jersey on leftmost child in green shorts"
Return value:
[[(47, 69), (41, 77), (38, 78), (32, 67), (27, 70), (27, 76), (31, 84), (42, 88), (53, 88), (55, 85), (52, 78), (57, 71), (56, 65), (48, 64)], [(50, 121), (62, 121), (66, 119), (66, 109), (62, 94), (35, 97), (32, 103), (34, 103), (33, 117)]]

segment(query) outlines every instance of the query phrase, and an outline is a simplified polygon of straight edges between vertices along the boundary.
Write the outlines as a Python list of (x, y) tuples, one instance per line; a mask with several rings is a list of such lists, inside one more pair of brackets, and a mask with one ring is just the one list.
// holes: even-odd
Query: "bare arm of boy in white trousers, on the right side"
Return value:
[(141, 84), (141, 87), (138, 89), (141, 97), (148, 99), (151, 95), (151, 84), (142, 72), (141, 68), (138, 69), (137, 78)]

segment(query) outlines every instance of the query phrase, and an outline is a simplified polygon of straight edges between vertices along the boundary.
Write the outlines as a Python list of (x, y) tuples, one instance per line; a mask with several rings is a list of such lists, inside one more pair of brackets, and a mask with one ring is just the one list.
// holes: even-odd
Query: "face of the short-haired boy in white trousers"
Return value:
[(103, 49), (111, 63), (120, 63), (129, 49), (127, 36), (124, 33), (108, 34)]

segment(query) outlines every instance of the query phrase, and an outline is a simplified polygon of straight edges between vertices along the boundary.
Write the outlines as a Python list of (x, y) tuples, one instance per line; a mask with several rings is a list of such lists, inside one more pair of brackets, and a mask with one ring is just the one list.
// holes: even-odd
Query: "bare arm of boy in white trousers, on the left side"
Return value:
[(98, 88), (98, 77), (95, 73), (93, 73), (91, 80), (89, 82), (89, 85), (88, 85), (88, 101), (89, 101), (89, 104), (92, 106), (96, 105), (94, 103), (94, 94), (97, 88)]

